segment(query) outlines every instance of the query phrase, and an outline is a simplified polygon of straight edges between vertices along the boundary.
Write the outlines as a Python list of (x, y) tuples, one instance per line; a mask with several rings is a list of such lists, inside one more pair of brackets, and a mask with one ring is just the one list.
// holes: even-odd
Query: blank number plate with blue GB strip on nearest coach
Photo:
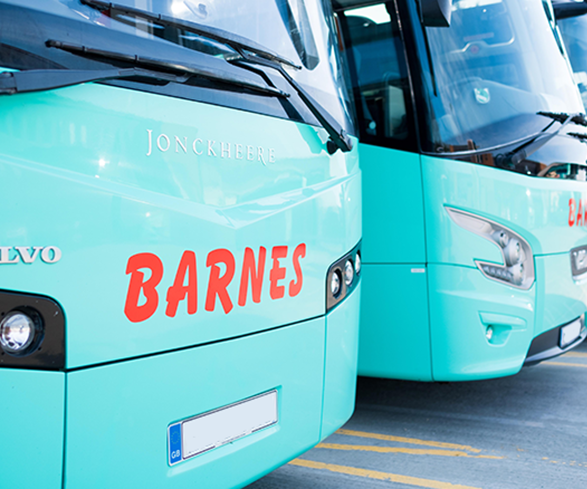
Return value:
[(169, 464), (205, 453), (276, 424), (277, 391), (199, 414), (167, 428)]

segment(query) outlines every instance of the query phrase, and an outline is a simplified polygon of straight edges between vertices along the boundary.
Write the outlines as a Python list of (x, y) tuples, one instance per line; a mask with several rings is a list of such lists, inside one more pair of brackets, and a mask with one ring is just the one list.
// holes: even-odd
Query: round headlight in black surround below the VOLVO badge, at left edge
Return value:
[(11, 311), (0, 321), (0, 347), (9, 355), (30, 353), (39, 343), (41, 335), (41, 321), (38, 314), (32, 311)]

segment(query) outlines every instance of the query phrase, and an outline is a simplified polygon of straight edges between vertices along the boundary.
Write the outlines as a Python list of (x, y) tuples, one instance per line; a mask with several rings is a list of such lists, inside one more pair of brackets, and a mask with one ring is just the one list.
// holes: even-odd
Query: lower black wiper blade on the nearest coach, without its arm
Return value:
[[(104, 49), (89, 48), (87, 46), (76, 45), (65, 43), (61, 41), (55, 41), (49, 39), (46, 45), (50, 48), (63, 49), (70, 53), (74, 53), (81, 56), (104, 58), (107, 60), (121, 61), (130, 63), (131, 65), (144, 66), (147, 69), (131, 68), (137, 70), (137, 75), (123, 75), (116, 76), (116, 78), (124, 78), (127, 76), (146, 76), (150, 78), (157, 78), (160, 80), (168, 80), (169, 82), (185, 83), (191, 79), (191, 77), (199, 76), (208, 80), (214, 80), (217, 82), (228, 83), (229, 85), (238, 86), (243, 89), (248, 89), (261, 95), (268, 95), (272, 97), (289, 97), (289, 93), (282, 92), (282, 90), (276, 89), (269, 85), (260, 85), (252, 82), (245, 78), (241, 78), (233, 75), (232, 73), (225, 72), (214, 68), (200, 68), (200, 66), (190, 65), (188, 63), (171, 62), (163, 59), (149, 58), (147, 56), (132, 55), (129, 53), (120, 53), (116, 51), (108, 51)], [(157, 71), (153, 71), (156, 69)], [(73, 70), (53, 70), (56, 73), (66, 73)], [(88, 73), (92, 73), (94, 70), (88, 70)], [(124, 72), (123, 70), (117, 70)], [(171, 73), (170, 73), (171, 72)], [(181, 76), (177, 76), (173, 72), (181, 73)], [(23, 75), (29, 73), (28, 71), (19, 72)], [(110, 77), (112, 78), (112, 77)], [(88, 81), (99, 81), (98, 79)], [(84, 83), (78, 82), (78, 83)], [(66, 83), (66, 85), (76, 85), (76, 83)]]

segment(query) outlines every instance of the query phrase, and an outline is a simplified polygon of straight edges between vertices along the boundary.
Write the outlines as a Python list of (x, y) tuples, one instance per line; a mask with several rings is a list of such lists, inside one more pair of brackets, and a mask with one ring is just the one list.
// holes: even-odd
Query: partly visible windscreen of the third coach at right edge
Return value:
[(587, 15), (558, 21), (571, 60), (573, 76), (581, 91), (583, 103), (587, 103)]

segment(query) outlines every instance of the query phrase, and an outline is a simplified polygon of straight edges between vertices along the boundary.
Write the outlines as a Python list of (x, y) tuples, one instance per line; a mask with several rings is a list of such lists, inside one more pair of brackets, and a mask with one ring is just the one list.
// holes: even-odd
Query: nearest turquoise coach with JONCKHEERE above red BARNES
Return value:
[(329, 2), (0, 1), (0, 487), (242, 487), (355, 397)]

